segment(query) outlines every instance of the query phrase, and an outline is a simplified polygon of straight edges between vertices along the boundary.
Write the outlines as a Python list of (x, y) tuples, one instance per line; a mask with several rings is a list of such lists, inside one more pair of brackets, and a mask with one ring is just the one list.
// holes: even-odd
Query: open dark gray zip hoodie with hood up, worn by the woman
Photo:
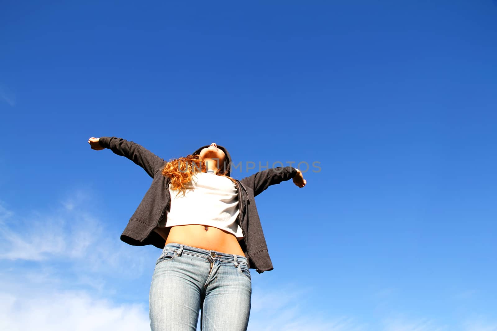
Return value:
[[(114, 136), (100, 137), (98, 142), (100, 146), (109, 148), (113, 153), (132, 160), (152, 177), (152, 184), (129, 219), (126, 228), (121, 234), (121, 240), (133, 246), (153, 245), (163, 249), (166, 241), (154, 231), (154, 228), (164, 217), (166, 217), (167, 221), (165, 211), (171, 202), (169, 193), (170, 178), (162, 175), (162, 169), (166, 161), (145, 147), (123, 138)], [(208, 146), (198, 148), (194, 154), (199, 153), (202, 148)], [(222, 149), (226, 154), (227, 162), (225, 166), (226, 169), (231, 170), (232, 161), (228, 150), (219, 145), (218, 148)], [(273, 265), (267, 251), (254, 198), (270, 185), (287, 181), (296, 174), (297, 170), (288, 166), (259, 171), (242, 180), (235, 179), (240, 207), (239, 221), (244, 234), (244, 240), (239, 243), (247, 258), (249, 268), (255, 269), (258, 273), (272, 270)], [(166, 228), (166, 231), (168, 229), (170, 228)]]

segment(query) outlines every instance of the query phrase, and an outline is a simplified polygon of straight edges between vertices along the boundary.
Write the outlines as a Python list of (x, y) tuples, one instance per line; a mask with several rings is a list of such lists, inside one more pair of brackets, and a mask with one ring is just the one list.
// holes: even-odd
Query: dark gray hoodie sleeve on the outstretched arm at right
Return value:
[(254, 197), (256, 197), (270, 185), (287, 181), (293, 178), (296, 174), (297, 169), (294, 167), (276, 167), (259, 171), (251, 176), (243, 178), (240, 182), (251, 188), (253, 190)]

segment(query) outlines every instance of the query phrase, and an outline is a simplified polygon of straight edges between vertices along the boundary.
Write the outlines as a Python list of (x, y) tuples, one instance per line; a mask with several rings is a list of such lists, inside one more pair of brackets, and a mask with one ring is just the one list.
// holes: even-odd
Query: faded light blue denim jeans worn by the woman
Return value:
[(151, 331), (246, 331), (252, 281), (247, 258), (168, 243), (150, 285)]

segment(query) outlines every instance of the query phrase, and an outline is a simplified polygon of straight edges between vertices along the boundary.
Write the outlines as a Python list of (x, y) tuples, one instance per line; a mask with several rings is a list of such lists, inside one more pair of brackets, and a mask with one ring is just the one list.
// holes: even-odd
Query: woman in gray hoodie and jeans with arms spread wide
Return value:
[(300, 170), (267, 169), (241, 181), (230, 177), (231, 156), (216, 143), (186, 157), (164, 161), (143, 146), (118, 137), (91, 137), (92, 149), (111, 149), (153, 178), (121, 240), (162, 248), (150, 287), (152, 331), (247, 330), (249, 268), (272, 270), (254, 197)]

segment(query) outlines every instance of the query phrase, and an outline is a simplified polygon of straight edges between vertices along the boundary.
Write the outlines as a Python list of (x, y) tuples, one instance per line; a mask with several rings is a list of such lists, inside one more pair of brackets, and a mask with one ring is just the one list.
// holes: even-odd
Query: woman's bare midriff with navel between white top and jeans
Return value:
[[(171, 226), (168, 243), (183, 244), (226, 254), (245, 256), (237, 237), (227, 231), (208, 225), (188, 224)], [(243, 239), (241, 239), (243, 240)]]

